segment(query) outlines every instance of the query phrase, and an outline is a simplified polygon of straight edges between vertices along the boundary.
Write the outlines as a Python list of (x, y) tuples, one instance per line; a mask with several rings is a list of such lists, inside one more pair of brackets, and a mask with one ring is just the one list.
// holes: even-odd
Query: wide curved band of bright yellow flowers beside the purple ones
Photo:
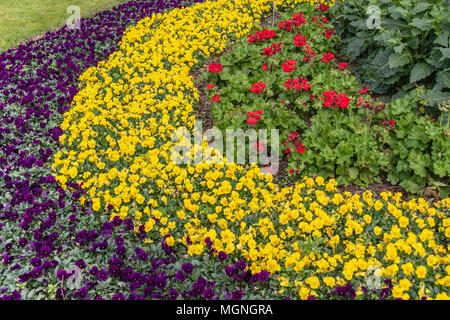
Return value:
[(204, 254), (209, 237), (253, 273), (268, 270), (280, 293), (320, 296), (364, 284), (375, 268), (392, 279), (395, 297), (448, 298), (450, 199), (341, 194), (321, 177), (281, 188), (256, 166), (170, 160), (173, 131), (195, 122), (191, 68), (248, 34), (271, 4), (208, 1), (128, 28), (120, 50), (80, 77), (83, 89), (61, 125), (57, 179), (83, 183), (81, 200), (94, 211), (133, 217), (150, 239), (170, 235), (166, 242), (189, 255)]

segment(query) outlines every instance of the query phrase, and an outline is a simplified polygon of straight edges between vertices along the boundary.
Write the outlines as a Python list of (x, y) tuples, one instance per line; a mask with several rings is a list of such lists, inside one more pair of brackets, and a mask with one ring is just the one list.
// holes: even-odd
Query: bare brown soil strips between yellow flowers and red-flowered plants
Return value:
[[(280, 15), (275, 14), (275, 21), (279, 21), (279, 19), (280, 19)], [(266, 27), (266, 28), (272, 28), (273, 27), (272, 26), (272, 14), (270, 14), (268, 17), (263, 19), (261, 21), (260, 26)], [(234, 49), (234, 47), (235, 47), (235, 45), (231, 44), (220, 55), (210, 56), (209, 59), (207, 60), (206, 64), (203, 67), (201, 67), (200, 69), (193, 71), (191, 73), (191, 76), (194, 79), (194, 85), (197, 88), (198, 93), (199, 93), (199, 101), (198, 101), (198, 105), (196, 106), (196, 109), (195, 109), (195, 115), (198, 120), (202, 121), (203, 131), (211, 129), (214, 126), (214, 122), (211, 118), (211, 112), (210, 112), (212, 101), (208, 99), (208, 95), (206, 92), (207, 83), (206, 83), (205, 79), (201, 78), (201, 76), (207, 72), (209, 64), (217, 63), (218, 58), (221, 55), (225, 55), (225, 54), (229, 53), (230, 51), (232, 51)], [(277, 174), (274, 176), (274, 182), (278, 183), (279, 185), (283, 185), (283, 186), (290, 186), (290, 185), (294, 184), (295, 181), (293, 181), (292, 179), (289, 179), (289, 177), (287, 175), (287, 167), (288, 167), (287, 157), (283, 156), (280, 159), (279, 170), (278, 170)], [(339, 185), (337, 188), (340, 192), (350, 192), (352, 194), (359, 194), (359, 195), (362, 195), (364, 191), (369, 190), (373, 193), (375, 198), (381, 198), (380, 194), (382, 192), (390, 191), (392, 194), (395, 194), (397, 192), (402, 193), (403, 200), (408, 200), (410, 198), (418, 197), (418, 196), (421, 196), (424, 199), (431, 200), (431, 201), (440, 200), (438, 193), (433, 189), (427, 188), (422, 194), (413, 195), (413, 194), (407, 192), (404, 188), (402, 188), (400, 186), (392, 185), (391, 183), (389, 183), (386, 179), (386, 174), (384, 174), (384, 173), (380, 174), (380, 180), (381, 180), (381, 183), (372, 183), (372, 184), (368, 185), (367, 188), (361, 188), (358, 185)]]

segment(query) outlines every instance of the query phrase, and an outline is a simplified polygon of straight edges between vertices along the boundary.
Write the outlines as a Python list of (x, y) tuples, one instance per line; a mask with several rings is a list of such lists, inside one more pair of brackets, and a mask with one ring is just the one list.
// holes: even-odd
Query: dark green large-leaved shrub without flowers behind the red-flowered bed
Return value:
[[(370, 5), (380, 9), (379, 28), (367, 23)], [(444, 0), (348, 0), (336, 6), (333, 22), (352, 71), (375, 93), (398, 98), (425, 85), (436, 106), (450, 97), (448, 7)]]

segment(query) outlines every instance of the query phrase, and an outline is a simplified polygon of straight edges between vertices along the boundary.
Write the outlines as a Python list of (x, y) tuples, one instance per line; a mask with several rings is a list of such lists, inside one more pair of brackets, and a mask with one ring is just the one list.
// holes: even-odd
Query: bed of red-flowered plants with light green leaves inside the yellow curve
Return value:
[(388, 104), (372, 98), (334, 54), (339, 37), (328, 10), (305, 9), (249, 34), (209, 70), (204, 91), (215, 125), (279, 129), (293, 179), (320, 175), (367, 187), (384, 175), (408, 192), (447, 197), (449, 129), (420, 112), (425, 90)]

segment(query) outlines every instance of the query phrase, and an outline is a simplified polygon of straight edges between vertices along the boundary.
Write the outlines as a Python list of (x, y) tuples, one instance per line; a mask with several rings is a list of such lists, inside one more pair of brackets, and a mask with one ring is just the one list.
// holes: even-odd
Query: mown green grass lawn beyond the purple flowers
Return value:
[(90, 17), (127, 1), (0, 0), (0, 52), (64, 26), (70, 5), (80, 7), (81, 17)]

